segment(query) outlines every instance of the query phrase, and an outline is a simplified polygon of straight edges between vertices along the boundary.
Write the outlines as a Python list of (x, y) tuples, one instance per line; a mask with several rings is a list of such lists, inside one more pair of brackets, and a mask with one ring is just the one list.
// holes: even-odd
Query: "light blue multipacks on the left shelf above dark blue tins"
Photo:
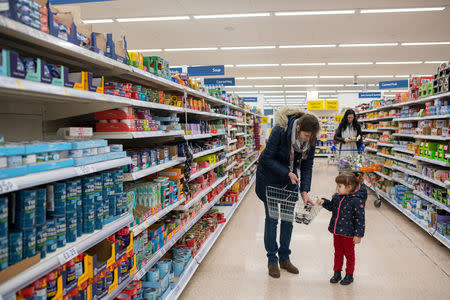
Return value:
[[(113, 153), (114, 152), (114, 153)], [(125, 157), (106, 140), (32, 141), (0, 146), (0, 179)]]

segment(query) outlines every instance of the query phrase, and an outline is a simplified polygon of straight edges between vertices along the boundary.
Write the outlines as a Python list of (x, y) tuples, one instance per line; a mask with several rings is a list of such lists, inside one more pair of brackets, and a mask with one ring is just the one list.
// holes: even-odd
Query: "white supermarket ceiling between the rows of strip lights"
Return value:
[[(360, 9), (412, 8), (446, 6), (443, 11), (413, 13), (361, 14)], [(116, 19), (124, 17), (190, 16), (189, 20), (95, 24), (94, 30), (124, 31), (129, 49), (168, 49), (229, 46), (277, 46), (261, 50), (214, 50), (190, 52), (147, 52), (158, 55), (171, 65), (211, 64), (286, 64), (286, 63), (343, 63), (343, 62), (404, 62), (406, 65), (344, 65), (344, 66), (275, 66), (226, 68), (231, 77), (285, 76), (367, 76), (434, 74), (437, 64), (425, 61), (450, 59), (450, 45), (391, 46), (391, 47), (334, 47), (280, 49), (283, 45), (450, 42), (450, 0), (177, 0), (177, 1), (111, 1), (82, 4), (82, 18)], [(356, 10), (349, 15), (275, 16), (279, 11)], [(195, 19), (195, 15), (260, 13), (269, 17)], [(358, 83), (375, 84), (394, 78), (360, 78)], [(295, 84), (352, 84), (348, 79), (238, 79), (237, 85), (295, 85)], [(359, 87), (361, 88), (361, 87)], [(237, 90), (238, 88), (236, 88)], [(253, 91), (289, 90), (354, 90), (355, 87), (253, 87)], [(369, 89), (376, 89), (370, 87)], [(274, 93), (272, 93), (274, 94)], [(280, 93), (280, 95), (289, 95)], [(270, 93), (266, 93), (270, 96)], [(291, 95), (295, 95), (291, 93)], [(272, 97), (273, 98), (273, 97)], [(292, 98), (292, 97), (290, 97)]]

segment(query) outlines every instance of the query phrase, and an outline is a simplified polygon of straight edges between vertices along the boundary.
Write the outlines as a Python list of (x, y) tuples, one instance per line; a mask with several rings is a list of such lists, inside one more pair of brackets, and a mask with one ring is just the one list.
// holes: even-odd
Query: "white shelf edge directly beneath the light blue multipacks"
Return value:
[(38, 186), (41, 184), (113, 169), (128, 164), (131, 164), (131, 159), (129, 157), (124, 157), (80, 167), (68, 167), (52, 171), (28, 174), (19, 177), (7, 178), (0, 180), (0, 195), (33, 186)]

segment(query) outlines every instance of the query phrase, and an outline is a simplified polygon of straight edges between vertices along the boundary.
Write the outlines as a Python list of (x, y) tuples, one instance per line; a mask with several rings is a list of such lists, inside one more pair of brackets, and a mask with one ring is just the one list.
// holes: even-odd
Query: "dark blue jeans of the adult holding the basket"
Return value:
[(289, 255), (291, 255), (289, 245), (291, 244), (291, 237), (292, 237), (292, 222), (287, 222), (283, 220), (281, 221), (280, 247), (278, 248), (277, 244), (278, 219), (272, 219), (269, 217), (267, 201), (264, 202), (264, 209), (266, 211), (266, 222), (264, 228), (264, 246), (266, 247), (269, 265), (278, 264), (278, 258), (280, 259), (280, 262), (289, 261)]

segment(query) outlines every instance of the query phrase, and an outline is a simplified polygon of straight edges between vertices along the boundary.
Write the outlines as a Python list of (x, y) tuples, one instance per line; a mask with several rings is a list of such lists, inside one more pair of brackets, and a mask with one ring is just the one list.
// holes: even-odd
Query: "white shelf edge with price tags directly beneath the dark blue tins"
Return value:
[(83, 253), (87, 249), (100, 243), (120, 229), (127, 227), (130, 222), (132, 222), (132, 220), (133, 218), (131, 217), (131, 215), (126, 214), (118, 218), (114, 222), (105, 225), (103, 229), (96, 230), (91, 234), (82, 235), (76, 240), (76, 242), (69, 243), (66, 247), (58, 248), (56, 252), (48, 253), (47, 256), (39, 263), (28, 268), (17, 276), (3, 282), (0, 285), (0, 295), (6, 296), (7, 294), (16, 292), (30, 285), (30, 283), (42, 278), (42, 276), (44, 276), (45, 274), (55, 270), (74, 257), (73, 255), (66, 256), (67, 253)]

